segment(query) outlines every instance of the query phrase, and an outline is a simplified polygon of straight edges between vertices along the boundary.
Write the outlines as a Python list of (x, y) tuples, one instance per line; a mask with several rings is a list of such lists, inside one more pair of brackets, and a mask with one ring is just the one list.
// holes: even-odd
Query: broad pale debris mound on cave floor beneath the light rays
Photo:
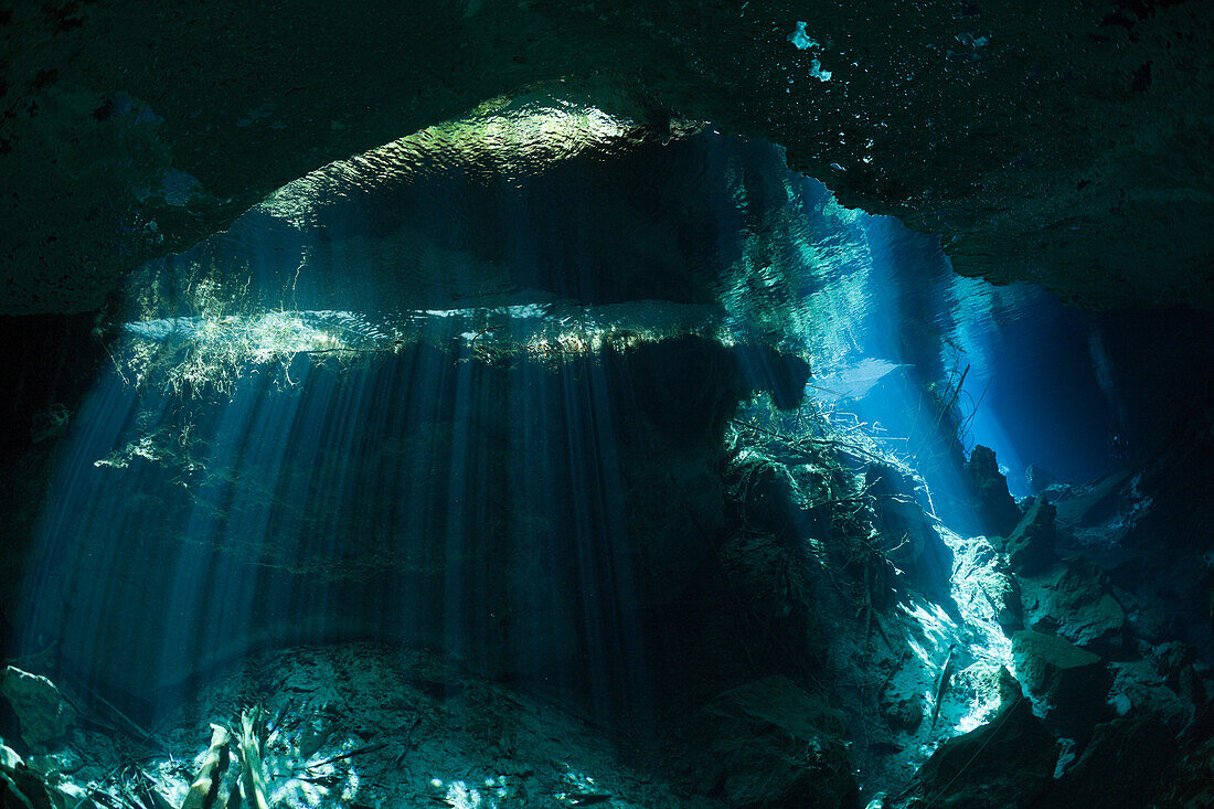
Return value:
[[(371, 643), (251, 657), (169, 712), (152, 740), (80, 726), (28, 764), (100, 807), (181, 807), (212, 728), (238, 726), (254, 703), (268, 730), (261, 758), (272, 807), (725, 805), (679, 786), (657, 751), (551, 701)], [(134, 797), (148, 790), (155, 797)]]

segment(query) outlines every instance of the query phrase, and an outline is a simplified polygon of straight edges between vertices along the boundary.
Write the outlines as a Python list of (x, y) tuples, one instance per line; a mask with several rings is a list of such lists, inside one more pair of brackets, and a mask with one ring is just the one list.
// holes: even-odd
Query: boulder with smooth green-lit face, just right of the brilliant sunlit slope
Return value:
[(1026, 629), (1011, 637), (1016, 677), (1045, 723), (1065, 736), (1085, 740), (1108, 711), (1105, 661), (1066, 638)]

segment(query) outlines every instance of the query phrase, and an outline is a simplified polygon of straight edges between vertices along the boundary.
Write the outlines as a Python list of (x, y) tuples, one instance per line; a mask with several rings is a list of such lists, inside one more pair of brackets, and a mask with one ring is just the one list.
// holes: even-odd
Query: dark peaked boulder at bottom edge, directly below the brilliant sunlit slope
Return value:
[(1050, 785), (1056, 763), (1054, 736), (1028, 700), (1016, 700), (989, 724), (936, 748), (915, 781), (934, 809), (1028, 807)]

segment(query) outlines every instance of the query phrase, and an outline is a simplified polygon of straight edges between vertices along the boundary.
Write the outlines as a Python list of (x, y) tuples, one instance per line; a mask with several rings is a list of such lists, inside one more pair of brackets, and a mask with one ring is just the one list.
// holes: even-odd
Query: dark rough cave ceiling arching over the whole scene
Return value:
[(549, 94), (787, 148), (955, 270), (1209, 307), (1214, 4), (0, 5), (0, 312), (98, 309), (333, 160)]

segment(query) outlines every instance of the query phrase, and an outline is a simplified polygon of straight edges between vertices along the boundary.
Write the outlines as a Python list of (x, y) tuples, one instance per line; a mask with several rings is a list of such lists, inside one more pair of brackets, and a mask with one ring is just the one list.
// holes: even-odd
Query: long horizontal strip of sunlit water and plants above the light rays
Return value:
[(631, 301), (579, 306), (555, 301), (494, 307), (404, 310), (369, 316), (347, 311), (283, 311), (136, 321), (120, 327), (112, 356), (123, 379), (165, 391), (229, 391), (261, 366), (278, 363), (294, 385), (297, 355), (350, 362), (426, 344), (463, 344), (481, 360), (527, 355), (546, 362), (624, 349), (673, 335), (734, 341), (717, 306)]

